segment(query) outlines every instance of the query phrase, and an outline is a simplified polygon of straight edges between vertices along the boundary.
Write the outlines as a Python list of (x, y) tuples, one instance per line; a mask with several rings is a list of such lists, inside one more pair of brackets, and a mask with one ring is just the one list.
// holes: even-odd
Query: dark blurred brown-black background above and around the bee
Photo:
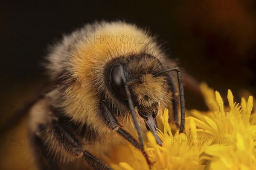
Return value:
[[(1, 123), (49, 78), (40, 66), (48, 45), (95, 20), (149, 28), (186, 68), (183, 77), (207, 82), (224, 98), (230, 88), (237, 102), (242, 95), (256, 96), (255, 0), (1, 0)], [(186, 108), (201, 109), (203, 99), (192, 91), (185, 89), (185, 99)], [(13, 164), (2, 160), (4, 168)]]

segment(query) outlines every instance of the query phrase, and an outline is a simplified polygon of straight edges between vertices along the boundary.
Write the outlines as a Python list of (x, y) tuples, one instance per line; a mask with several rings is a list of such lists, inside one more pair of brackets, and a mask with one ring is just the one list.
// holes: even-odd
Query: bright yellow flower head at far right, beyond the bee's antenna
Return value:
[(233, 94), (228, 90), (230, 109), (225, 112), (218, 91), (215, 91), (214, 100), (212, 89), (205, 84), (201, 89), (207, 102), (212, 102), (212, 111), (207, 116), (195, 112), (198, 119), (188, 117), (187, 120), (194, 120), (198, 133), (208, 133), (208, 139), (212, 139), (212, 143), (207, 143), (207, 138), (204, 140), (208, 145), (204, 153), (212, 156), (209, 169), (256, 169), (256, 125), (250, 124), (253, 97), (250, 96), (247, 102), (242, 98), (239, 106), (233, 102)]

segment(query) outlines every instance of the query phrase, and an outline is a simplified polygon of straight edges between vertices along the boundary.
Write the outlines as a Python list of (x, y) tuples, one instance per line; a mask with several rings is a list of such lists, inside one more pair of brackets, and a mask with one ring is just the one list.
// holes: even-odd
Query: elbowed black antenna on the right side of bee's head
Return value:
[(181, 117), (179, 133), (183, 133), (184, 124), (185, 124), (185, 99), (184, 99), (184, 89), (183, 89), (182, 79), (180, 75), (180, 69), (178, 67), (168, 68), (166, 70), (158, 72), (157, 74), (154, 74), (154, 77), (169, 73), (171, 71), (176, 71), (177, 77), (178, 77), (178, 83), (179, 83), (179, 89), (180, 89), (180, 117)]

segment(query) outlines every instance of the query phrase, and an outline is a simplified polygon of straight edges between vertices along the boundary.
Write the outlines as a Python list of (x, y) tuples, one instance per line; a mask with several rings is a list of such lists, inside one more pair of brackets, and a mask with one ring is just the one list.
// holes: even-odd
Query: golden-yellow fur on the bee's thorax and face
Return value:
[[(66, 70), (73, 79), (76, 79), (76, 82), (65, 89), (64, 95), (67, 99), (57, 99), (56, 97), (60, 95), (56, 95), (56, 91), (49, 96), (55, 101), (62, 101), (59, 103), (60, 106), (65, 108), (65, 112), (73, 118), (73, 121), (87, 123), (99, 130), (99, 133), (108, 130), (107, 128), (97, 128), (104, 124), (99, 119), (98, 114), (101, 113), (97, 110), (100, 92), (105, 91), (108, 98), (113, 101), (113, 105), (121, 105), (113, 98), (103, 83), (105, 77), (102, 72), (105, 70), (106, 64), (118, 57), (143, 53), (150, 54), (160, 61), (166, 58), (160, 50), (160, 45), (156, 43), (155, 37), (135, 25), (124, 22), (101, 22), (87, 25), (64, 37), (63, 44), (56, 46), (52, 51), (53, 53), (48, 57), (50, 62), (47, 68), (52, 71), (57, 69), (58, 72)], [(141, 67), (147, 65), (151, 65), (150, 61), (133, 65), (133, 69), (136, 67), (142, 69)], [(164, 93), (165, 87), (161, 83), (163, 78), (151, 81), (151, 77), (145, 75), (144, 79), (148, 81), (148, 84), (145, 84), (145, 87), (135, 86), (138, 89), (137, 95), (149, 91), (152, 92), (154, 99)], [(143, 90), (144, 88), (146, 91)], [(161, 102), (166, 100), (166, 97), (160, 96)], [(151, 104), (151, 102), (143, 102), (142, 97), (140, 97), (140, 102), (145, 106)], [(88, 106), (93, 106), (93, 108), (89, 109)]]

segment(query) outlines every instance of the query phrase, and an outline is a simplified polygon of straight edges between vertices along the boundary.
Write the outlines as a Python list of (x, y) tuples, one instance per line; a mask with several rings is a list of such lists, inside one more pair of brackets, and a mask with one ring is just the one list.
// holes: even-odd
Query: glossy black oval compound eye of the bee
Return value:
[(122, 100), (128, 99), (125, 93), (125, 73), (120, 63), (113, 65), (111, 69), (111, 85), (114, 94)]

